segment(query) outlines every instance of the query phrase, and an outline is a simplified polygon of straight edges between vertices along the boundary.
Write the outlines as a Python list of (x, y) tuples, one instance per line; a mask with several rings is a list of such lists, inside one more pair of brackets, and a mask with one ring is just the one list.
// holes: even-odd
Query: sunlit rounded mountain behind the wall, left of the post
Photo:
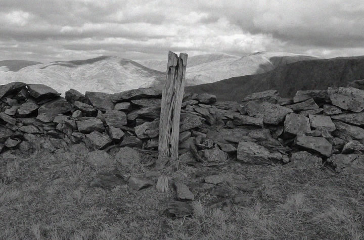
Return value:
[(0, 84), (12, 81), (41, 83), (64, 93), (85, 91), (120, 92), (139, 87), (162, 87), (165, 73), (115, 56), (52, 62), (28, 66), (18, 72), (0, 72)]

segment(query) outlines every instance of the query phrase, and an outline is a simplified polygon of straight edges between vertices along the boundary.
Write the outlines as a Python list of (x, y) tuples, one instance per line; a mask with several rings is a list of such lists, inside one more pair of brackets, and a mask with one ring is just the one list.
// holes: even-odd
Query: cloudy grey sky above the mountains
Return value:
[(1, 0), (0, 60), (364, 55), (364, 1)]

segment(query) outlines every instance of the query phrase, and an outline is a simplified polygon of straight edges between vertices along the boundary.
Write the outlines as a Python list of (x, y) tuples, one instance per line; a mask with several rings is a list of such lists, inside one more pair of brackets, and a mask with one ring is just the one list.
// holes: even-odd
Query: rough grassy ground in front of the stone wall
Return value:
[[(143, 175), (150, 164), (141, 161), (126, 173)], [(364, 239), (362, 175), (235, 161), (215, 168), (181, 163), (170, 174), (195, 194), (194, 214), (172, 218), (165, 209), (173, 191), (89, 187), (103, 171), (80, 153), (2, 154), (0, 239)], [(216, 173), (228, 180), (203, 183)], [(256, 188), (244, 191), (251, 183)], [(217, 197), (218, 189), (252, 201), (234, 204), (232, 197)]]

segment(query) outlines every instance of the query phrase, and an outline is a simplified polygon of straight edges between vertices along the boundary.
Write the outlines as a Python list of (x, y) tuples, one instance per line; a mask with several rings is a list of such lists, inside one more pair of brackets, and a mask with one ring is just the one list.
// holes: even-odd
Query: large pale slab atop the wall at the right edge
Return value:
[(332, 105), (357, 113), (364, 109), (364, 90), (353, 87), (329, 87), (328, 93)]

